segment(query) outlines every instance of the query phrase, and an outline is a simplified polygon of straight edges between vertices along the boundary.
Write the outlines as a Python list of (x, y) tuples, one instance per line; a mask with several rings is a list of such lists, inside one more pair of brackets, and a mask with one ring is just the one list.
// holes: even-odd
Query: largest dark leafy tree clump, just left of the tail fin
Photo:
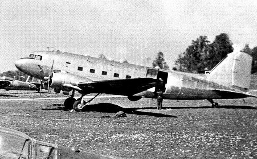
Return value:
[(195, 41), (192, 40), (184, 53), (178, 55), (175, 64), (180, 71), (204, 73), (233, 52), (232, 45), (227, 34), (217, 35), (211, 44), (207, 36), (200, 36)]

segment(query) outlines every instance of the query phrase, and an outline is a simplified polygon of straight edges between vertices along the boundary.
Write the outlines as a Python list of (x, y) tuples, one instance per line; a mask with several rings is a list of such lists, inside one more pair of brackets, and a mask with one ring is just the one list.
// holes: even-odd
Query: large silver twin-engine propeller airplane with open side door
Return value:
[[(25, 74), (44, 80), (44, 87), (71, 97), (65, 108), (81, 111), (100, 93), (124, 95), (130, 101), (142, 97), (156, 98), (163, 91), (163, 99), (207, 99), (212, 107), (220, 107), (213, 99), (256, 97), (250, 87), (252, 57), (243, 52), (229, 53), (208, 74), (192, 74), (162, 70), (102, 58), (66, 53), (58, 50), (35, 51), (20, 58), (15, 66)], [(74, 93), (81, 93), (74, 99)], [(83, 96), (97, 95), (89, 101)]]

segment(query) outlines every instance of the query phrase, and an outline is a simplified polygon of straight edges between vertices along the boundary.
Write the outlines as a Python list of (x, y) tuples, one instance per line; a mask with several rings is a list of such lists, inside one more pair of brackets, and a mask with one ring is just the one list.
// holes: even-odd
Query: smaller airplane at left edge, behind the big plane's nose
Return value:
[(22, 90), (22, 91), (39, 91), (40, 84), (37, 82), (29, 82), (29, 78), (24, 81), (15, 80), (14, 78), (10, 77), (0, 77), (0, 89), (9, 90)]

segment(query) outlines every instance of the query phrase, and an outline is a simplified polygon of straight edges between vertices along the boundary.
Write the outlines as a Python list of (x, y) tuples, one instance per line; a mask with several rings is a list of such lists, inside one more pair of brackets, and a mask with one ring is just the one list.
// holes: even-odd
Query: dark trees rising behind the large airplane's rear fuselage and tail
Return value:
[[(228, 35), (224, 33), (217, 35), (212, 43), (207, 36), (199, 36), (196, 40), (192, 40), (191, 45), (183, 53), (178, 55), (175, 62), (176, 67), (172, 69), (182, 72), (204, 73), (206, 70), (214, 68), (224, 57), (232, 53), (234, 50), (232, 45)], [(251, 49), (246, 44), (241, 51), (252, 56), (252, 73), (257, 72), (257, 46)], [(152, 66), (169, 69), (162, 52), (157, 54)]]

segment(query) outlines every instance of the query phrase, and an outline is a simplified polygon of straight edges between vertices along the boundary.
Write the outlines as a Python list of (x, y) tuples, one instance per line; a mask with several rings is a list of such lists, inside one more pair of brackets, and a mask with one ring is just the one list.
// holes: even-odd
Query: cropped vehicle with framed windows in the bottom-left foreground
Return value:
[(35, 140), (25, 133), (0, 127), (0, 159), (59, 159), (109, 157)]

